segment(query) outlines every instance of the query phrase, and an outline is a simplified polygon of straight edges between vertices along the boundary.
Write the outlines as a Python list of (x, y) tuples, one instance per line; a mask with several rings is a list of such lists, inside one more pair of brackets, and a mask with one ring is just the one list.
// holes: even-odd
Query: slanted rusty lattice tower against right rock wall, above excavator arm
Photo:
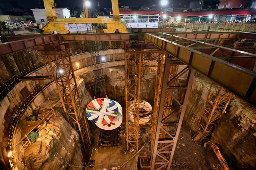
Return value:
[(210, 136), (218, 124), (218, 120), (228, 106), (232, 94), (225, 91), (223, 87), (218, 86), (212, 82), (207, 95), (204, 109), (196, 128), (196, 134), (193, 136), (195, 141), (202, 142), (205, 138)]

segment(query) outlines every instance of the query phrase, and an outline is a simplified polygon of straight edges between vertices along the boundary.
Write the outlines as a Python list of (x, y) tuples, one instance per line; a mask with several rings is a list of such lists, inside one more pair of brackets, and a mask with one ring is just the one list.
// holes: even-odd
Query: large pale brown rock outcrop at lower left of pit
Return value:
[(57, 115), (40, 131), (36, 142), (28, 146), (24, 162), (31, 170), (63, 170), (68, 164), (82, 166), (82, 157), (78, 133)]

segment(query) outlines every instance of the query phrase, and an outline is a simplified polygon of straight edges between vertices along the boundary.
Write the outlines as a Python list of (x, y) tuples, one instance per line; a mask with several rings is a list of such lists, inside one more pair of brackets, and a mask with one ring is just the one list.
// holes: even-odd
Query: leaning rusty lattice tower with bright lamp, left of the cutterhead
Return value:
[[(65, 57), (67, 55), (67, 57)], [(70, 48), (62, 51), (42, 52), (44, 63), (49, 63), (50, 73), (56, 83), (60, 100), (70, 125), (78, 131), (84, 150), (91, 143), (90, 131), (82, 109), (76, 77), (70, 57)], [(62, 70), (62, 71), (61, 71)]]

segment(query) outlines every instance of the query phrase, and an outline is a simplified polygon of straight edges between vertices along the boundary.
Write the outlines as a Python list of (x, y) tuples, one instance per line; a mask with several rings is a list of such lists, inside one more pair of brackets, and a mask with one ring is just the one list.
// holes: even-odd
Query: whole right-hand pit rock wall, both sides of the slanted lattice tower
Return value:
[[(196, 75), (190, 91), (183, 125), (196, 132), (210, 81)], [(211, 141), (217, 144), (224, 158), (234, 169), (256, 169), (256, 109), (237, 97), (232, 97), (226, 114), (221, 117)], [(191, 136), (192, 137), (192, 136)]]

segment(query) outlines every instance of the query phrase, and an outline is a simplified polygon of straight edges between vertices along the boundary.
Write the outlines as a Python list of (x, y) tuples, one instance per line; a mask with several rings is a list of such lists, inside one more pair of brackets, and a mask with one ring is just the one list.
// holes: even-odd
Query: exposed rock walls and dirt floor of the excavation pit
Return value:
[[(56, 116), (39, 132), (39, 138), (37, 138), (36, 142), (28, 146), (25, 152), (22, 152), (19, 145), (16, 147), (16, 157), (24, 162), (28, 169), (66, 169), (68, 167), (83, 166), (85, 165), (84, 162), (87, 163), (89, 159), (95, 160), (95, 164), (98, 165), (99, 169), (103, 165), (103, 168), (108, 168), (110, 164), (112, 167), (121, 166), (135, 154), (135, 151), (131, 154), (124, 154), (124, 149), (126, 149), (124, 65), (112, 67), (102, 65), (101, 70), (102, 74), (100, 77), (102, 78), (102, 83), (95, 79), (95, 75), (91, 70), (88, 71), (85, 68), (75, 72), (76, 77), (80, 77), (78, 89), (80, 91), (82, 107), (85, 108), (92, 101), (94, 95), (96, 98), (105, 97), (105, 92), (110, 99), (120, 103), (123, 109), (123, 123), (119, 131), (120, 147), (109, 149), (97, 147), (100, 129), (94, 124), (89, 123), (92, 143), (86, 153), (81, 152), (79, 135), (64, 119), (65, 117), (62, 117), (64, 115), (63, 109), (61, 109), (62, 105), (59, 103), (54, 106)], [(144, 69), (140, 99), (147, 101), (152, 106), (154, 106), (154, 90), (152, 89), (155, 88), (155, 76), (156, 67)], [(194, 142), (191, 139), (196, 131), (209, 86), (210, 81), (202, 75), (197, 74), (194, 77), (183, 121), (184, 127), (182, 127), (180, 132), (174, 161), (172, 162), (172, 170), (222, 169), (219, 167), (219, 162), (214, 154), (206, 154), (202, 143)], [(52, 95), (48, 93), (43, 104), (32, 109), (31, 113), (27, 112), (27, 115), (24, 115), (24, 120), (19, 125), (19, 130), (16, 131), (17, 142), (19, 141), (18, 138), (22, 136), (22, 131), (28, 128), (28, 124), (25, 123), (28, 115), (38, 110), (37, 118), (40, 119), (40, 114), (44, 113), (41, 113), (40, 110), (43, 110), (43, 108), (50, 109), (47, 97), (50, 98), (52, 104), (58, 101), (58, 93), (54, 92)], [(212, 134), (211, 141), (219, 146), (221, 153), (228, 161), (230, 169), (256, 169), (255, 113), (256, 110), (254, 108), (240, 99), (232, 97), (226, 114), (220, 119)], [(140, 147), (146, 143), (147, 135), (147, 129), (140, 130)], [(149, 156), (151, 153), (148, 147), (150, 147), (150, 141), (146, 143), (138, 156)], [(122, 168), (138, 168), (136, 166), (138, 156), (135, 156)], [(22, 165), (20, 163), (17, 163), (17, 165), (21, 169)]]

